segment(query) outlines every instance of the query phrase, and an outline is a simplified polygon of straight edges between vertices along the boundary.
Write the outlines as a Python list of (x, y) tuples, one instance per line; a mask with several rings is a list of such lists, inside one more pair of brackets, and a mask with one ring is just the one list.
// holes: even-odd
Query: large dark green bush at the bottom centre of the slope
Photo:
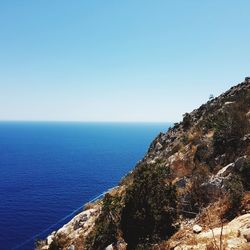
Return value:
[(164, 164), (140, 165), (125, 196), (121, 229), (128, 249), (140, 249), (172, 235), (177, 218), (176, 188)]

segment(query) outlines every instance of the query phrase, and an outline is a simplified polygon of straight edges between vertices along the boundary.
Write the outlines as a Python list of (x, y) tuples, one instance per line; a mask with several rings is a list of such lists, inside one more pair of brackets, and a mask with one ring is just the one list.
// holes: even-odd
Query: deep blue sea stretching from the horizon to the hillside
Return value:
[[(169, 124), (0, 123), (0, 249), (115, 186)], [(20, 249), (33, 249), (33, 242)]]

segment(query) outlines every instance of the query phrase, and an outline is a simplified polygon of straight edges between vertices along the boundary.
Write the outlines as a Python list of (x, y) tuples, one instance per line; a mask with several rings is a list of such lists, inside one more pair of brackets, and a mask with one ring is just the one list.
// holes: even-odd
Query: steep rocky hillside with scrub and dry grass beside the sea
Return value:
[(183, 116), (37, 249), (250, 249), (250, 81)]

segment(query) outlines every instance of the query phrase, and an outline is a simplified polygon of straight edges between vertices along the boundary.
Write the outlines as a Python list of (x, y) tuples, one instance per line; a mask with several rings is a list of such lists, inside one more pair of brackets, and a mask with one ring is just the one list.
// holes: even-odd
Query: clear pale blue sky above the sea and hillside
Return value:
[(0, 2), (0, 120), (178, 121), (250, 74), (249, 0)]

